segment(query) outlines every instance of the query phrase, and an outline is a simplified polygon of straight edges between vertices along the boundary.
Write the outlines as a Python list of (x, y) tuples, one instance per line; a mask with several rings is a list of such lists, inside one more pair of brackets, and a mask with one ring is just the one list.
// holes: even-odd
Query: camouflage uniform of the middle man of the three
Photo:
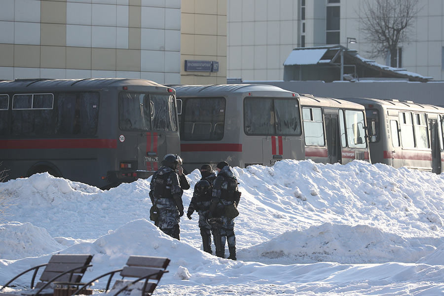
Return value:
[[(206, 180), (211, 185), (213, 184), (214, 179), (216, 179), (215, 173), (211, 173), (206, 178), (201, 178), (200, 180)], [(204, 196), (199, 196), (196, 192), (196, 187), (194, 187), (193, 197), (188, 206), (187, 216), (191, 219), (191, 215), (194, 211), (199, 214), (199, 228), (200, 235), (202, 236), (202, 245), (204, 252), (212, 254), (211, 250), (211, 230), (212, 227), (207, 223), (206, 219), (208, 218), (208, 213), (210, 211), (212, 193), (211, 189)]]

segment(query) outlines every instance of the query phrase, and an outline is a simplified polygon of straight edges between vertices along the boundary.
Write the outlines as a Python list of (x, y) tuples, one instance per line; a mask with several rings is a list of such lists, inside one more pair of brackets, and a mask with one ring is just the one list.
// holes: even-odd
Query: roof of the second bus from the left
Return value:
[(176, 90), (176, 95), (192, 95), (197, 93), (211, 93), (213, 95), (248, 92), (285, 92), (298, 94), (274, 85), (266, 84), (211, 84), (211, 85), (168, 85)]

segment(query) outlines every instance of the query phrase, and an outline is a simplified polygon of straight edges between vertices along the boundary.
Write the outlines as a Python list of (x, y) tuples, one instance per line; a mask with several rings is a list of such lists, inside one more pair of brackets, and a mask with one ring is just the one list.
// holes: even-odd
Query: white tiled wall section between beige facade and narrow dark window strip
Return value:
[(227, 1), (227, 77), (283, 79), (283, 61), (296, 47), (297, 1)]

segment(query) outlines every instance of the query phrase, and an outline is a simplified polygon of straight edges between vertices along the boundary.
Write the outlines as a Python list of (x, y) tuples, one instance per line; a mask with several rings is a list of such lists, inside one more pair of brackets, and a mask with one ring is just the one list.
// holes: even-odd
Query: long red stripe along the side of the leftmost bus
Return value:
[(0, 140), (0, 149), (117, 148), (117, 139)]

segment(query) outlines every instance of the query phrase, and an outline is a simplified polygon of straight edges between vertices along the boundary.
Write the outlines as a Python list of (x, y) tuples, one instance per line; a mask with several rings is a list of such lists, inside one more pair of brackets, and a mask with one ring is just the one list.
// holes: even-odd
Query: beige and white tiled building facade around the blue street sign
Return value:
[[(0, 52), (0, 79), (222, 82), (226, 0), (1, 0)], [(185, 72), (185, 59), (221, 67)]]

